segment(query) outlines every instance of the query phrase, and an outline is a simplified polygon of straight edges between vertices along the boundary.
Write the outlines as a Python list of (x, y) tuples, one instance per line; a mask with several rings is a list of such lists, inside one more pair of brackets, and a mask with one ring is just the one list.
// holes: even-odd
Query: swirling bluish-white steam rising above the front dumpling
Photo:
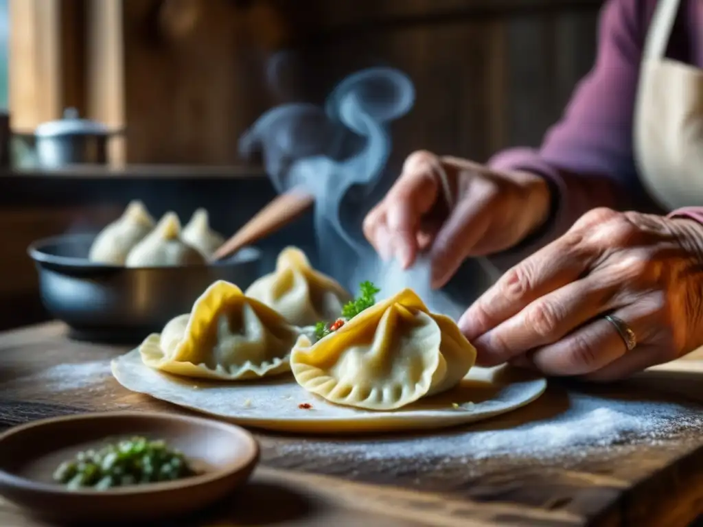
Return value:
[(314, 195), (322, 271), (354, 292), (371, 280), (382, 297), (412, 287), (432, 311), (458, 318), (463, 309), (431, 289), (426, 258), (408, 271), (395, 261), (383, 263), (361, 231), (366, 212), (382, 197), (378, 183), (392, 145), (388, 126), (414, 101), (413, 83), (403, 72), (362, 70), (340, 82), (324, 108), (291, 103), (266, 112), (240, 139), (240, 152), (262, 151), (278, 193), (298, 188)]

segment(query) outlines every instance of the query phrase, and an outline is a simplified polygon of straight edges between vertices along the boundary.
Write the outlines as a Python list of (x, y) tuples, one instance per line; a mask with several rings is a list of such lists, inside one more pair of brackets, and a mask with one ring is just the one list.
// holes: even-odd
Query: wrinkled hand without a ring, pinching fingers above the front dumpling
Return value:
[(429, 248), (432, 285), (441, 287), (467, 257), (522, 241), (547, 219), (549, 207), (549, 189), (539, 176), (420, 151), (408, 157), (398, 181), (366, 216), (363, 232), (384, 259), (396, 257), (404, 268)]

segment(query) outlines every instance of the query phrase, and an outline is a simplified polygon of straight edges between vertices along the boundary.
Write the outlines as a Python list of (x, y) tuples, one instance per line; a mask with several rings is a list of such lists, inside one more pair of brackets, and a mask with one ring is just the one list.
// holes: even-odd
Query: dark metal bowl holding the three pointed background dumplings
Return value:
[(42, 303), (79, 338), (141, 341), (191, 311), (215, 280), (245, 289), (259, 277), (261, 252), (254, 247), (208, 266), (125, 268), (89, 261), (94, 238), (62, 235), (27, 249), (39, 273)]

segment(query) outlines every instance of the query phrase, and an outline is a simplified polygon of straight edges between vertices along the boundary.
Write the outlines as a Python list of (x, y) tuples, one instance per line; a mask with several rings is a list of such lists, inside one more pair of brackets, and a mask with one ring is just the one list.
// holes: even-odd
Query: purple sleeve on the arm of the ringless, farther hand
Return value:
[(529, 171), (557, 192), (548, 225), (521, 247), (491, 257), (505, 268), (565, 233), (595, 207), (626, 206), (623, 192), (637, 186), (633, 162), (634, 100), (643, 47), (643, 20), (651, 0), (608, 0), (600, 13), (598, 54), (576, 86), (562, 120), (538, 150), (499, 152), (489, 167)]

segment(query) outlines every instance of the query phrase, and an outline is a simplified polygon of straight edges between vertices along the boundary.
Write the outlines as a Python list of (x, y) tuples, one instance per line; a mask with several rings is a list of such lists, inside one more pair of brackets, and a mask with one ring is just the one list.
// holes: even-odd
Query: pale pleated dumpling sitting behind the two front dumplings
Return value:
[(247, 297), (262, 301), (297, 326), (335, 320), (352, 297), (332, 278), (318, 273), (304, 252), (287, 247), (278, 255), (276, 271), (247, 289)]

